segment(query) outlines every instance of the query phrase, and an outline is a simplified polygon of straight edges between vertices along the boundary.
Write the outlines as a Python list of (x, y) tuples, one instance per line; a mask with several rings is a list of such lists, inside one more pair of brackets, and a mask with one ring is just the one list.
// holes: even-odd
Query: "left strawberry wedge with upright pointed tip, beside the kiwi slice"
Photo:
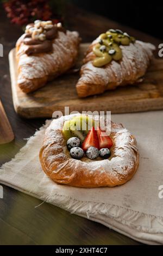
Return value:
[(93, 126), (92, 126), (92, 129), (89, 131), (89, 133), (87, 133), (87, 136), (84, 139), (84, 142), (82, 144), (82, 149), (86, 151), (91, 146), (99, 149), (97, 131)]

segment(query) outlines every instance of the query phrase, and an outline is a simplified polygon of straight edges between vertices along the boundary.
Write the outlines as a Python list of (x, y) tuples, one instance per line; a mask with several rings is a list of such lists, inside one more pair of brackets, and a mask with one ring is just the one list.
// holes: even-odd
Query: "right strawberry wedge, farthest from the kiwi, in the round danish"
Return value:
[(97, 136), (99, 141), (99, 149), (108, 148), (110, 149), (113, 145), (111, 138), (105, 131), (102, 131), (100, 127), (97, 128)]

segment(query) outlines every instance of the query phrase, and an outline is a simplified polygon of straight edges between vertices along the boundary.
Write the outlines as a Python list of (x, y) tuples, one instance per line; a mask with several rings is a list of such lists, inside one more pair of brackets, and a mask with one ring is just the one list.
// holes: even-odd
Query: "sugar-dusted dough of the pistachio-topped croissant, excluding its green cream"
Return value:
[(110, 63), (98, 68), (92, 62), (96, 58), (92, 51), (98, 39), (92, 42), (84, 65), (80, 70), (80, 79), (76, 85), (79, 97), (101, 94), (105, 90), (112, 90), (118, 86), (126, 86), (142, 81), (143, 76), (153, 58), (155, 46), (136, 40), (130, 45), (120, 45), (122, 60), (112, 60)]

